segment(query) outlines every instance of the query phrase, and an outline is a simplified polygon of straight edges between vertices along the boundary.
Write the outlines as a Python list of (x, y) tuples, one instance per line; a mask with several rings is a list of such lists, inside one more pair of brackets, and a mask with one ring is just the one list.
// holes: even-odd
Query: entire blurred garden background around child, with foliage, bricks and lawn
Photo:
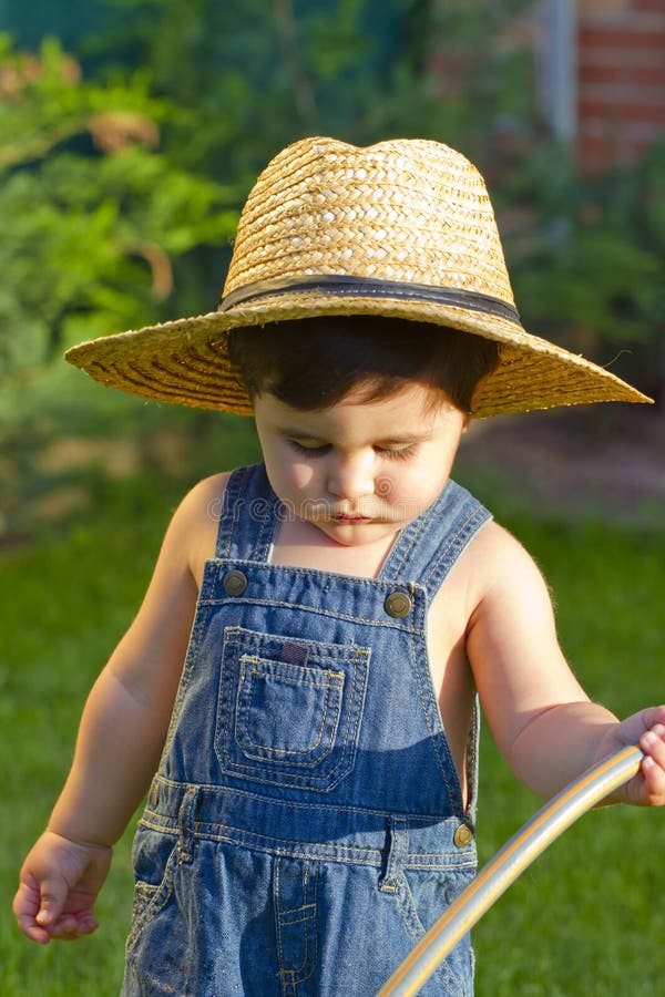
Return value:
[[(8, 897), (173, 507), (258, 453), (248, 420), (106, 391), (62, 352), (214, 307), (256, 174), (308, 134), (466, 153), (525, 327), (655, 399), (479, 422), (458, 476), (543, 565), (590, 693), (622, 713), (663, 698), (665, 0), (0, 0)], [(483, 751), (489, 856), (535, 801)], [(659, 993), (655, 828), (594, 814), (569, 832), (479, 928), (480, 994)], [(116, 993), (129, 868), (124, 842), (110, 924), (75, 955), (3, 919), (0, 994)]]

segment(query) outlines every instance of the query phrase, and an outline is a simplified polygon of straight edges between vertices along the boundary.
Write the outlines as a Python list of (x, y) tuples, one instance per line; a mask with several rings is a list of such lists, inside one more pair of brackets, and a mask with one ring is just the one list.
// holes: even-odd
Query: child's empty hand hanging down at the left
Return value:
[(29, 853), (13, 902), (23, 934), (45, 945), (98, 927), (92, 907), (111, 865), (111, 849), (78, 844), (45, 831)]

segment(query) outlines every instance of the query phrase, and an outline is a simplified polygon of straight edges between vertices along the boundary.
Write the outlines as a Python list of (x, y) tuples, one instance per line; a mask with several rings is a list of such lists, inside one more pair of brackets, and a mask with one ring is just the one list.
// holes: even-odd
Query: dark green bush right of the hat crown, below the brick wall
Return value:
[(533, 213), (512, 260), (528, 325), (601, 361), (641, 345), (652, 388), (665, 374), (664, 164), (656, 145), (633, 171), (580, 178), (564, 157), (535, 156), (502, 192), (507, 210), (512, 195)]

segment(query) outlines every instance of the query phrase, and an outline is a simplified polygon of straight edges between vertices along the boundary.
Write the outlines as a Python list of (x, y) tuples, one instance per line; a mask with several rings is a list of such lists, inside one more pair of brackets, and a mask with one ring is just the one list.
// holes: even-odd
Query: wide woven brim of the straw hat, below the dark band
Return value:
[(226, 333), (317, 316), (380, 315), (448, 326), (501, 345), (475, 418), (601, 401), (652, 402), (615, 374), (514, 322), (454, 306), (320, 294), (263, 298), (225, 312), (177, 319), (89, 340), (66, 360), (109, 388), (193, 408), (250, 415), (252, 401), (227, 352)]

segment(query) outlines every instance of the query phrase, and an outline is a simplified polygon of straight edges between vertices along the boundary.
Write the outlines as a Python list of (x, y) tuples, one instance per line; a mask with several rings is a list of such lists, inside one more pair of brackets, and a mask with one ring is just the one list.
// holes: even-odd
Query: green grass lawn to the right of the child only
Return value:
[[(626, 716), (665, 700), (665, 532), (511, 524), (557, 605), (569, 660), (590, 696)], [(541, 805), (491, 738), (481, 753), (481, 864)], [(657, 997), (665, 993), (665, 813), (583, 816), (479, 923), (481, 997)]]

